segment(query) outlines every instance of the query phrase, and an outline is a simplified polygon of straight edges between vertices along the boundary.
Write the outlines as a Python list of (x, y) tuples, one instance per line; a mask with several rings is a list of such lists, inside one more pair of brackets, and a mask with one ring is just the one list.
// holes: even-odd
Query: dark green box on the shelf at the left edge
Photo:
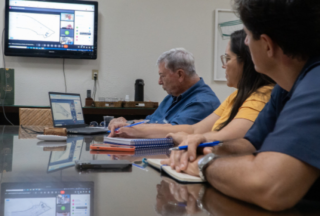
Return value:
[[(6, 86), (5, 86), (6, 77)], [(6, 93), (5, 93), (6, 90)], [(3, 98), (5, 99), (3, 102)], [(0, 68), (0, 104), (14, 105), (14, 69)]]

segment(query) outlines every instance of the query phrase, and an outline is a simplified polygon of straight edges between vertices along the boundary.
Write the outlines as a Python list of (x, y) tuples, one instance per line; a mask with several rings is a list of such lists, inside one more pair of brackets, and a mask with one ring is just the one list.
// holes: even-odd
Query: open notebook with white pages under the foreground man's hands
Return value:
[(163, 159), (147, 159), (148, 165), (159, 169), (160, 171), (164, 171), (173, 179), (184, 182), (184, 183), (199, 183), (203, 182), (203, 180), (198, 176), (191, 176), (186, 173), (177, 173), (175, 170), (172, 170), (170, 166), (165, 166), (160, 164), (160, 161)]

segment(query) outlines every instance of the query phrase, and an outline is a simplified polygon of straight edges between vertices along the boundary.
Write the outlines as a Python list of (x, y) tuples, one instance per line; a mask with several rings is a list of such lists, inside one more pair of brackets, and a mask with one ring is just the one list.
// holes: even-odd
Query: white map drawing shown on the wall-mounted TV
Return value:
[(9, 19), (9, 39), (59, 41), (59, 15), (9, 12)]

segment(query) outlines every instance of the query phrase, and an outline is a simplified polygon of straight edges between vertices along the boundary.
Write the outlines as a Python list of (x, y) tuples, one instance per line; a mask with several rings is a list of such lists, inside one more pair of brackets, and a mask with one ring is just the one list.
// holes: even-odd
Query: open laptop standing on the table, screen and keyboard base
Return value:
[(79, 94), (49, 92), (53, 127), (66, 128), (68, 133), (99, 134), (107, 130), (86, 127)]

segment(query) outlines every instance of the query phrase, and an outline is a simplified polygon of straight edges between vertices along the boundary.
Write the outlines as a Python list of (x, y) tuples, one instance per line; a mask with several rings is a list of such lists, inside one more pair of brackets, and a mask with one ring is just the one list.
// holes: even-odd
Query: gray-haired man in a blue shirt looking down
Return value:
[[(159, 70), (158, 84), (168, 95), (152, 115), (144, 120), (148, 124), (195, 124), (210, 115), (220, 101), (211, 88), (200, 78), (194, 68), (193, 55), (183, 48), (175, 48), (160, 55), (156, 62)], [(120, 117), (113, 119), (112, 125), (122, 126), (141, 120), (126, 121)]]

